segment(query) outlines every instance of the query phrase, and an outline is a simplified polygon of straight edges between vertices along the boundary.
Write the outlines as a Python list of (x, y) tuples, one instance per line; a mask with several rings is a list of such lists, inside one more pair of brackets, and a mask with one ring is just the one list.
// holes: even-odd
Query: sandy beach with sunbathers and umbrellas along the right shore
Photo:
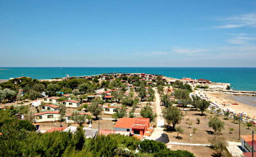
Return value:
[[(256, 107), (252, 105), (248, 105), (245, 102), (239, 102), (236, 100), (236, 97), (233, 97), (232, 94), (224, 94), (224, 93), (205, 93), (206, 96), (209, 99), (212, 99), (216, 101), (219, 104), (222, 104), (225, 102), (226, 106), (224, 108), (231, 108), (238, 111), (242, 111), (247, 114), (251, 114), (253, 117), (254, 115), (256, 116)], [(233, 103), (238, 103), (238, 105), (232, 105)], [(228, 105), (227, 105), (228, 104)]]

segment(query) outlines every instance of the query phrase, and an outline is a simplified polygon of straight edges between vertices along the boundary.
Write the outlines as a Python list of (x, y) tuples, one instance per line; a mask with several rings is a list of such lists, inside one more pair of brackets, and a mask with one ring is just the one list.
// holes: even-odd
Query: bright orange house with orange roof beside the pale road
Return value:
[[(148, 129), (151, 129), (151, 132), (153, 130), (153, 126), (150, 126), (149, 118), (120, 118), (114, 125), (114, 130), (130, 131), (131, 133), (139, 134), (142, 137)], [(147, 132), (147, 134), (150, 134), (151, 132)]]

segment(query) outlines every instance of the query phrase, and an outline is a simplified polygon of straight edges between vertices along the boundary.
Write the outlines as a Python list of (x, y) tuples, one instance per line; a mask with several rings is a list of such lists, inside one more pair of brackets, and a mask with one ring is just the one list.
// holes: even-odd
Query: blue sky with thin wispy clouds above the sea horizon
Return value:
[(256, 1), (0, 1), (0, 67), (256, 67)]

